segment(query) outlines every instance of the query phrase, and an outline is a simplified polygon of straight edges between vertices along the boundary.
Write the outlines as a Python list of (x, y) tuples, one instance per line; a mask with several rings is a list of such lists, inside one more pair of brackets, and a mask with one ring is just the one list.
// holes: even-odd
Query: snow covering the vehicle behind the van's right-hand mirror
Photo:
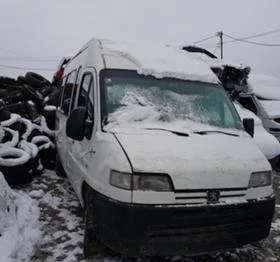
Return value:
[(242, 119), (253, 118), (255, 124), (254, 141), (257, 146), (263, 152), (267, 159), (272, 159), (280, 154), (280, 144), (278, 140), (268, 133), (261, 120), (251, 111), (245, 109), (238, 103), (234, 103), (234, 106)]

